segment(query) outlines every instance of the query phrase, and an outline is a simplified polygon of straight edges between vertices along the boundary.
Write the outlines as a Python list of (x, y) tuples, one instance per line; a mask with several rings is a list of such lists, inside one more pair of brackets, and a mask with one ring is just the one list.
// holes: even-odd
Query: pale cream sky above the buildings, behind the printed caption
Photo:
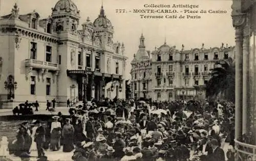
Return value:
[[(114, 26), (114, 40), (121, 41), (125, 45), (125, 56), (128, 57), (126, 65), (126, 79), (130, 79), (131, 61), (136, 54), (139, 38), (143, 32), (146, 50), (153, 51), (164, 43), (170, 46), (176, 45), (180, 50), (184, 44), (185, 50), (201, 48), (220, 47), (221, 43), (234, 45), (234, 28), (231, 19), (232, 1), (222, 0), (72, 0), (80, 10), (80, 24), (89, 16), (94, 21), (99, 15), (101, 4), (103, 4), (105, 15)], [(58, 0), (0, 0), (0, 15), (11, 12), (13, 5), (17, 3), (20, 14), (26, 14), (35, 10), (40, 18), (51, 15), (51, 8)], [(190, 11), (206, 10), (207, 13), (193, 13), (190, 15), (201, 16), (200, 19), (144, 19), (144, 15), (187, 15), (185, 8), (176, 8), (179, 13), (133, 13), (134, 9), (170, 9), (174, 8), (145, 8), (145, 4), (155, 5), (198, 5), (199, 8)], [(116, 9), (124, 9), (127, 13), (116, 13)], [(186, 8), (188, 9), (188, 8)], [(208, 10), (225, 10), (226, 13), (208, 13)], [(131, 11), (131, 12), (130, 12)], [(183, 11), (181, 13), (181, 11)], [(81, 26), (79, 27), (81, 29)]]

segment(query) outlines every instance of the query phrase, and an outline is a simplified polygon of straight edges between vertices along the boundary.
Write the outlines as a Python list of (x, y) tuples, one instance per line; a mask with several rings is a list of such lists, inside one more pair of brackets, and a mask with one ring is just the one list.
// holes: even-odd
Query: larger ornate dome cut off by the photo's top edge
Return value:
[(79, 17), (79, 12), (76, 5), (71, 0), (59, 0), (55, 7), (52, 8), (53, 16), (61, 14), (73, 14), (74, 16)]

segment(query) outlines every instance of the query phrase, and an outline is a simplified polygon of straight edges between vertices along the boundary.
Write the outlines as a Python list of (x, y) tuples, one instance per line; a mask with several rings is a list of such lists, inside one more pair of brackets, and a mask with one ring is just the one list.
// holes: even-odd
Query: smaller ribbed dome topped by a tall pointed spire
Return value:
[(93, 25), (96, 28), (113, 28), (111, 21), (105, 16), (103, 6), (101, 6), (100, 14), (98, 18), (94, 20)]

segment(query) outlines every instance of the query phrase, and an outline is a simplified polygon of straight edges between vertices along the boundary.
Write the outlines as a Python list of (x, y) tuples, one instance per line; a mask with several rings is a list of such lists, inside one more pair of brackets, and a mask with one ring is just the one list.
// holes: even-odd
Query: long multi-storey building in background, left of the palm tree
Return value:
[(139, 49), (131, 62), (132, 98), (153, 101), (203, 100), (205, 84), (211, 68), (220, 59), (234, 59), (234, 47), (222, 43), (221, 47), (181, 50), (166, 41), (154, 51), (145, 49), (145, 38), (140, 37)]

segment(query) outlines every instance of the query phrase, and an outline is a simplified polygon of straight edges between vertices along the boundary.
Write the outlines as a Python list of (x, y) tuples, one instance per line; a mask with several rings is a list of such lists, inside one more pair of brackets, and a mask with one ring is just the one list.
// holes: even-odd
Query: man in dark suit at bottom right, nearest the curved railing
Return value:
[(212, 154), (209, 156), (210, 161), (225, 161), (225, 154), (223, 149), (219, 147), (219, 142), (217, 139), (211, 140)]

